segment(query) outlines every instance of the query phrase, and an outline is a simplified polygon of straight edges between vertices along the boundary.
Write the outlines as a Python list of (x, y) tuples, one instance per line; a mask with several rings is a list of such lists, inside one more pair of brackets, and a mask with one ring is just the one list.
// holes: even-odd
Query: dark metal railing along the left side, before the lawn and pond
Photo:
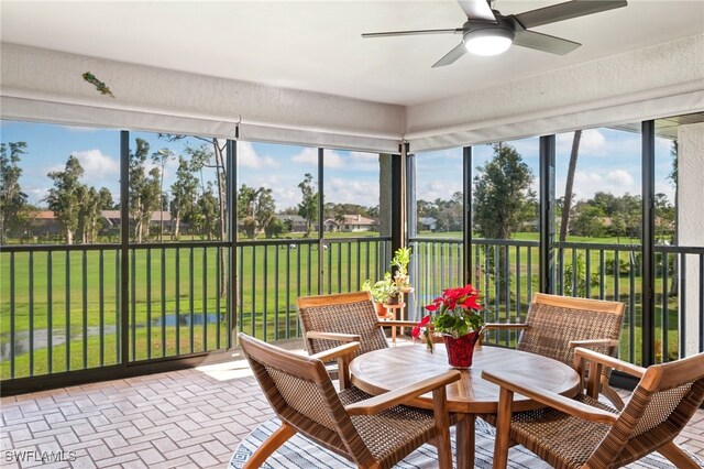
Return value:
[(234, 347), (235, 324), (268, 341), (296, 338), (298, 296), (360, 290), (391, 261), (388, 238), (239, 242), (234, 269), (231, 249), (131, 244), (122, 272), (117, 244), (3, 246), (0, 378), (121, 363), (123, 314), (129, 362)]

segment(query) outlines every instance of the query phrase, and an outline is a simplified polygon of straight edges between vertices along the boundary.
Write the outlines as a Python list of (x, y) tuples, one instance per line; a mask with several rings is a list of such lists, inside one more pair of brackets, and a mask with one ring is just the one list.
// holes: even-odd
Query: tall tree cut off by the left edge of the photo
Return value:
[(20, 228), (26, 211), (28, 197), (20, 187), (22, 168), (19, 165), (21, 156), (26, 154), (26, 143), (10, 142), (9, 145), (8, 155), (7, 145), (0, 144), (0, 243)]

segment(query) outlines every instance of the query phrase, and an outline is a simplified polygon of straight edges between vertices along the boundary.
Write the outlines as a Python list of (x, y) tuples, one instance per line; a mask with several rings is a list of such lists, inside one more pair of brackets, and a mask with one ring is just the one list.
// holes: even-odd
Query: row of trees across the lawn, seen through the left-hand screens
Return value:
[[(185, 139), (185, 135), (160, 134), (169, 142)], [(201, 144), (190, 142), (184, 145), (184, 154), (176, 155), (168, 148), (152, 151), (144, 139), (136, 139), (129, 154), (129, 216), (130, 237), (136, 242), (147, 240), (164, 241), (164, 236), (179, 239), (198, 234), (208, 240), (226, 239), (228, 231), (227, 165), (226, 146), (218, 139), (196, 138)], [(2, 143), (0, 149), (0, 241), (9, 237), (23, 237), (33, 231), (34, 217), (42, 210), (28, 201), (22, 192), (20, 177), (22, 157), (28, 154), (25, 142)], [(175, 179), (164, 186), (165, 167), (177, 162)], [(215, 172), (215, 181), (208, 173)], [(42, 199), (46, 208), (54, 212), (63, 237), (68, 244), (75, 242), (95, 243), (105, 234), (107, 220), (102, 210), (119, 210), (107, 187), (96, 189), (84, 182), (84, 167), (75, 155), (69, 155), (63, 170), (47, 174), (53, 187)], [(312, 175), (306, 173), (298, 184), (301, 200), (297, 206), (286, 208), (282, 215), (298, 215), (306, 220), (309, 236), (318, 221), (319, 195)], [(290, 232), (290, 221), (276, 217), (277, 207), (270, 187), (258, 188), (242, 184), (237, 192), (237, 215), (240, 228), (248, 238), (264, 234), (278, 238)], [(170, 215), (168, 229), (164, 214)], [(153, 219), (154, 214), (158, 220)], [(378, 216), (378, 206), (363, 207), (355, 204), (323, 204), (324, 219), (344, 221), (345, 215)], [(155, 226), (156, 225), (156, 226)]]

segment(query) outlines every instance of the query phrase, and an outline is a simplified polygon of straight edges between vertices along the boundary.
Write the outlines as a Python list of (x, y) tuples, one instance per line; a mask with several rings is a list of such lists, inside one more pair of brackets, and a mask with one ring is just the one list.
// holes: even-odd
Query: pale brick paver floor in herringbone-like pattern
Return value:
[[(3, 468), (226, 468), (238, 443), (274, 415), (241, 357), (3, 397), (1, 405)], [(704, 459), (704, 411), (678, 443)], [(32, 460), (42, 454), (73, 460)]]

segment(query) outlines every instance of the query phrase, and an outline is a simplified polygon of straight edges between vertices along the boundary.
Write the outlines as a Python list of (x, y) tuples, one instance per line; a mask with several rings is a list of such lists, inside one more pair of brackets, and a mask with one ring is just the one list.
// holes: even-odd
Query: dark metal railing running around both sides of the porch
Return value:
[[(415, 239), (410, 246), (409, 317), (419, 319), (424, 305), (462, 282), (464, 252), (460, 239)], [(538, 248), (537, 241), (473, 240), (471, 283), (483, 292), (487, 321), (525, 318), (538, 291)], [(267, 341), (296, 338), (298, 296), (358, 291), (366, 279), (380, 279), (392, 257), (388, 238), (243, 241), (234, 248), (232, 270), (223, 263), (231, 249), (227, 242), (132, 244), (125, 273), (116, 244), (3, 247), (2, 379), (120, 363), (122, 312), (130, 362), (228, 349), (237, 346), (235, 328)], [(640, 362), (640, 248), (559, 243), (556, 261), (556, 293), (626, 303), (620, 356)], [(696, 332), (688, 326), (692, 315), (698, 318), (698, 350), (704, 348), (703, 270), (704, 248), (656, 247), (658, 361), (685, 355), (683, 338)], [(688, 310), (688, 298), (698, 298), (698, 312)], [(516, 331), (488, 337), (503, 346), (516, 340)]]

